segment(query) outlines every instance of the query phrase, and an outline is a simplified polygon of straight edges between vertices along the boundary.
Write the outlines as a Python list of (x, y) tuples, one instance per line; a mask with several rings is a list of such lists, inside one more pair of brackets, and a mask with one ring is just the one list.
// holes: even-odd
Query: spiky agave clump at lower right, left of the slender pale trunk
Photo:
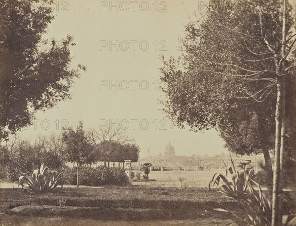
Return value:
[[(217, 186), (217, 190), (225, 196), (242, 202), (243, 209), (233, 205), (217, 209), (230, 212), (238, 225), (268, 226), (271, 224), (271, 205), (259, 184), (252, 180), (253, 176), (253, 169), (241, 168), (236, 171), (231, 158), (231, 166), (226, 168), (225, 176), (215, 174), (209, 183), (209, 189)], [(251, 182), (259, 186), (259, 191), (253, 188)]]

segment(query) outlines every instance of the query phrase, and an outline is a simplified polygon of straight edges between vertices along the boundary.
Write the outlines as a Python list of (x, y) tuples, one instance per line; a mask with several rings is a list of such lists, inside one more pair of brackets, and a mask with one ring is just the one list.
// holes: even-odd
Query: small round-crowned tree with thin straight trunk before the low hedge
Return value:
[(92, 145), (90, 144), (85, 131), (83, 130), (83, 122), (79, 121), (76, 130), (73, 127), (64, 127), (62, 131), (62, 140), (65, 143), (65, 152), (70, 162), (75, 162), (77, 167), (77, 188), (79, 187), (79, 166), (85, 162), (85, 159), (92, 152)]

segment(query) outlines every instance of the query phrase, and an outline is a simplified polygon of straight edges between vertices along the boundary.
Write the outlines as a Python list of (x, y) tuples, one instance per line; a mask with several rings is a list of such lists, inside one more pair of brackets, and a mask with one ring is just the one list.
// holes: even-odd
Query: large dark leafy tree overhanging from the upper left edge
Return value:
[(79, 70), (68, 35), (62, 40), (42, 40), (54, 19), (53, 0), (1, 0), (0, 2), (0, 137), (30, 125), (37, 110), (52, 108), (71, 98)]

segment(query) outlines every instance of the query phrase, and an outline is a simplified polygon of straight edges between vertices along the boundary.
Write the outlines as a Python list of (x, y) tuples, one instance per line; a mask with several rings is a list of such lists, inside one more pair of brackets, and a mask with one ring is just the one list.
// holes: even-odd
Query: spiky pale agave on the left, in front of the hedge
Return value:
[(48, 167), (44, 167), (42, 163), (40, 169), (34, 170), (32, 176), (30, 172), (22, 173), (19, 177), (18, 186), (24, 188), (24, 184), (28, 184), (29, 190), (34, 192), (53, 191), (58, 184), (63, 188), (63, 174), (57, 176), (55, 171), (51, 171)]

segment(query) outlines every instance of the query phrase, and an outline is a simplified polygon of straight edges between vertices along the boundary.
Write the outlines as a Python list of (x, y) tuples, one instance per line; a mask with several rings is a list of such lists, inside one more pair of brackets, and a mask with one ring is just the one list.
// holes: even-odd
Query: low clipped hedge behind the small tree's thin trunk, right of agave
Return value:
[[(76, 185), (76, 167), (62, 170), (64, 184)], [(79, 185), (128, 185), (130, 183), (123, 168), (99, 166), (97, 168), (79, 167)]]

